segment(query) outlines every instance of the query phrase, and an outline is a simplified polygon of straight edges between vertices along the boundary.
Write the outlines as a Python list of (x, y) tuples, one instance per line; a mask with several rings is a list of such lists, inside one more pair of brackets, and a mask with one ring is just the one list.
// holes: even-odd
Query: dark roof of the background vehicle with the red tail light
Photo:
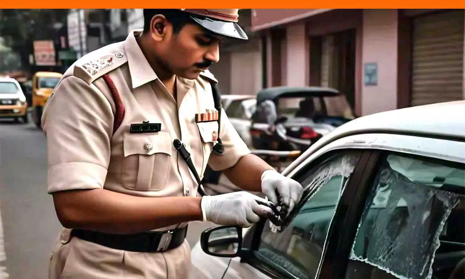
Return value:
[(316, 97), (316, 96), (338, 96), (341, 93), (329, 87), (319, 86), (274, 86), (265, 88), (257, 93), (257, 103), (261, 103), (265, 100), (274, 100), (278, 97)]

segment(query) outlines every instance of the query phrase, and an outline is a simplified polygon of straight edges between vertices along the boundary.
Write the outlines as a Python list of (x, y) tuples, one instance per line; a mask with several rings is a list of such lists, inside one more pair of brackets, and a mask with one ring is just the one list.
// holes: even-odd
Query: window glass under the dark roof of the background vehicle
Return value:
[(279, 98), (277, 106), (278, 115), (288, 117), (344, 117), (354, 119), (353, 111), (344, 95), (306, 97), (306, 98)]

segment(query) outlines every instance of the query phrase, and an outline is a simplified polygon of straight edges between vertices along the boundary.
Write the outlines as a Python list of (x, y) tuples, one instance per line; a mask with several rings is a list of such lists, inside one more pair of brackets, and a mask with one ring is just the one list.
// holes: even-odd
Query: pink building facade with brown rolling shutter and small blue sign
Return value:
[(465, 99), (464, 10), (257, 9), (266, 86), (329, 86), (359, 115)]

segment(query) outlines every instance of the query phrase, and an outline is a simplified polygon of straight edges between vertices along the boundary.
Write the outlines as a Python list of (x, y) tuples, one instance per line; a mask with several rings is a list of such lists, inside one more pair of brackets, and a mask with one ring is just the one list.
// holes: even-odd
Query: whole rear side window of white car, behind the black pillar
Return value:
[(463, 164), (381, 158), (345, 279), (463, 279), (464, 189)]

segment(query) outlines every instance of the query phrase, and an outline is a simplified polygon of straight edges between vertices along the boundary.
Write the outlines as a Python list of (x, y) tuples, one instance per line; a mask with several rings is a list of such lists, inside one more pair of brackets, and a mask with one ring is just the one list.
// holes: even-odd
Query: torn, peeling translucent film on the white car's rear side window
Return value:
[(446, 181), (464, 186), (464, 178), (463, 169), (388, 156), (365, 206), (350, 259), (399, 279), (431, 279), (439, 236), (461, 197), (441, 187)]

